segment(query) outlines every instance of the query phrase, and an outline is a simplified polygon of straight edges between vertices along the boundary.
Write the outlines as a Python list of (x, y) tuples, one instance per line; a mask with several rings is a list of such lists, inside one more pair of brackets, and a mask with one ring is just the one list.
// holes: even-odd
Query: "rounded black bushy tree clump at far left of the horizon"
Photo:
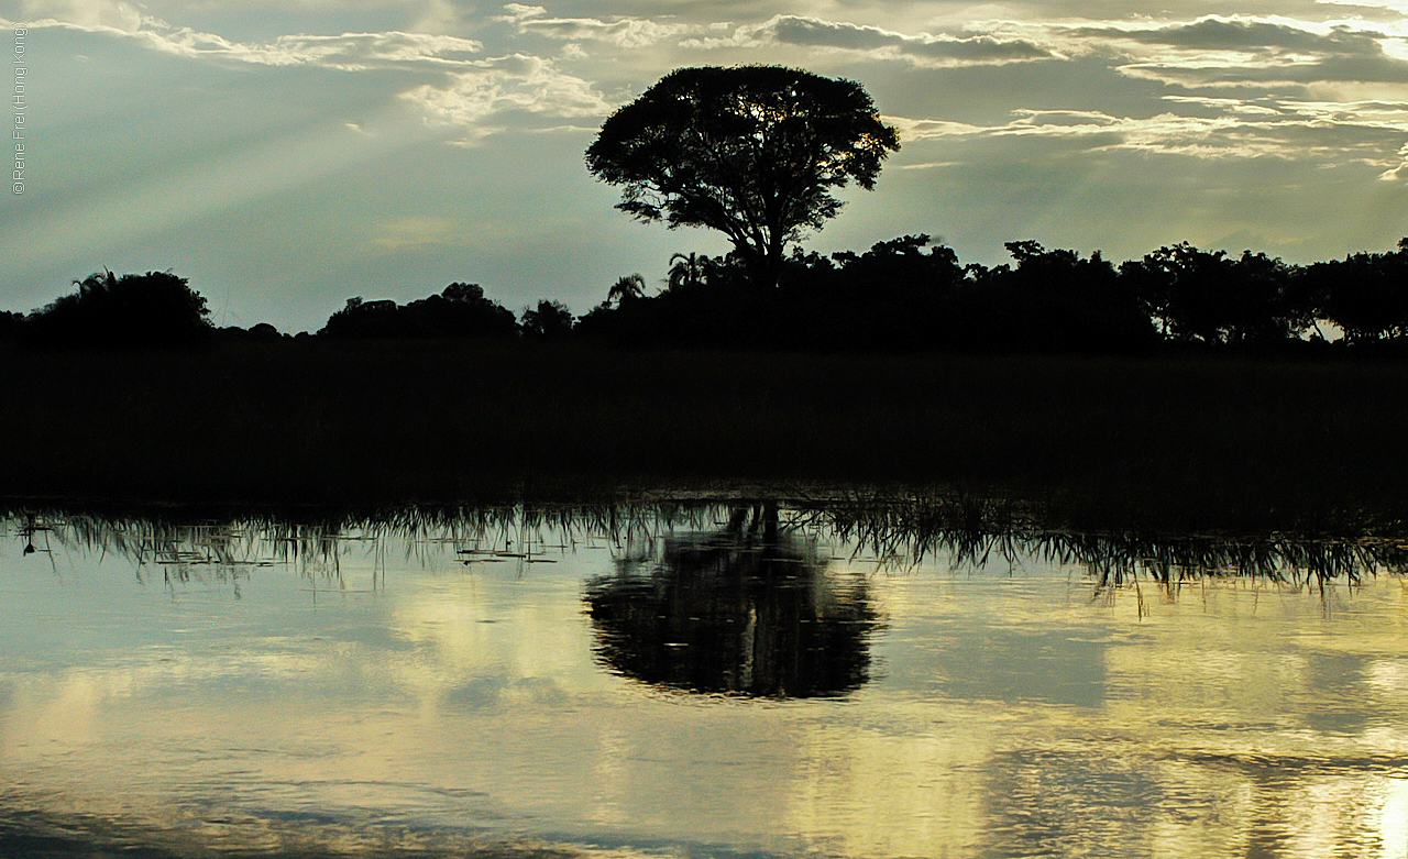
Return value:
[(170, 272), (100, 272), (75, 280), (25, 321), (24, 335), (45, 346), (186, 348), (210, 337), (206, 299)]

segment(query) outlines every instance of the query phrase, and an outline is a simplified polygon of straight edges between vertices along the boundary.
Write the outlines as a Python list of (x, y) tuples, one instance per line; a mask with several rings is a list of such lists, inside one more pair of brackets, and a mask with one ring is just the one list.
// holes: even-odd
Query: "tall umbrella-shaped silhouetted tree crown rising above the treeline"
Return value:
[(900, 148), (866, 90), (784, 66), (690, 68), (617, 110), (587, 169), (622, 186), (617, 208), (734, 242), (756, 282), (776, 284), (786, 248), (841, 211), (832, 190), (870, 190)]

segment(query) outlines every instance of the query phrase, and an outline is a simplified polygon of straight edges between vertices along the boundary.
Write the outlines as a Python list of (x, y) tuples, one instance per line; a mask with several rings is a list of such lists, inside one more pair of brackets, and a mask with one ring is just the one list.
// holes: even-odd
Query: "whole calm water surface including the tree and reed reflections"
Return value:
[(11, 515), (0, 855), (1408, 858), (1404, 542), (959, 513)]

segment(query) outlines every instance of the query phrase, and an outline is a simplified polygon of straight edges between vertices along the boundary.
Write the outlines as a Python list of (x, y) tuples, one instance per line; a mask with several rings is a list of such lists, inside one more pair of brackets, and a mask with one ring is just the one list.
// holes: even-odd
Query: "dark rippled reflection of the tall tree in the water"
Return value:
[(870, 677), (876, 625), (863, 579), (829, 576), (777, 527), (776, 503), (739, 504), (717, 531), (669, 537), (659, 558), (587, 583), (597, 658), (673, 689), (839, 696)]

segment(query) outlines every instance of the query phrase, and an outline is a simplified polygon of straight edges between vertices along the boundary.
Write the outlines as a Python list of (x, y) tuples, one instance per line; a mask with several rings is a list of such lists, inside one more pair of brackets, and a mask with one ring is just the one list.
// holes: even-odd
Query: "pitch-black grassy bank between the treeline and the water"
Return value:
[(1408, 486), (1401, 365), (465, 341), (6, 359), (11, 499), (387, 504), (946, 483), (1073, 517), (1236, 527), (1398, 517)]

